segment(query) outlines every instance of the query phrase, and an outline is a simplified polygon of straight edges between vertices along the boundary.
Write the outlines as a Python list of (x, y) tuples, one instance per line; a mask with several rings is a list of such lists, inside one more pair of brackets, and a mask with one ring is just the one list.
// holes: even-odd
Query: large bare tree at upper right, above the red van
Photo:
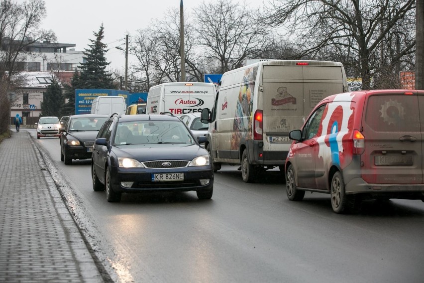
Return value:
[[(415, 0), (269, 0), (265, 22), (287, 28), (316, 57), (325, 48), (345, 57), (371, 87), (374, 74), (415, 52)], [(397, 36), (395, 52), (388, 42)], [(399, 66), (399, 65), (398, 65)]]

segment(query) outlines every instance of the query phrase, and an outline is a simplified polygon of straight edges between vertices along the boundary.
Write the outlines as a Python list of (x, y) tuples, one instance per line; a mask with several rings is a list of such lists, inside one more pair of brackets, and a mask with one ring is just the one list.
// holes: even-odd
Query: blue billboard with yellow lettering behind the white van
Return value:
[(75, 90), (75, 114), (90, 114), (91, 104), (99, 96), (123, 96), (127, 100), (129, 92), (116, 89), (76, 89)]

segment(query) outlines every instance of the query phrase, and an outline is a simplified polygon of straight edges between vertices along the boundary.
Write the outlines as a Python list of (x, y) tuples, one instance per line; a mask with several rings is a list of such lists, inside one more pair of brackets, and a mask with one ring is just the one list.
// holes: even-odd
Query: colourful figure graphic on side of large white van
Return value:
[(243, 83), (238, 93), (238, 100), (234, 115), (233, 131), (231, 135), (231, 149), (236, 150), (240, 140), (252, 139), (253, 120), (253, 92), (258, 67), (248, 68), (244, 72)]

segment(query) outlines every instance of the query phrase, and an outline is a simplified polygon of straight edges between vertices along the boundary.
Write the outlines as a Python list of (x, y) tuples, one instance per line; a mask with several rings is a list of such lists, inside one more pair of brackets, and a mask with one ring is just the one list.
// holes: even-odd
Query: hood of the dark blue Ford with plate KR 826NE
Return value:
[(205, 148), (197, 144), (133, 144), (113, 147), (117, 157), (129, 157), (140, 162), (150, 160), (193, 160), (201, 155), (208, 155)]

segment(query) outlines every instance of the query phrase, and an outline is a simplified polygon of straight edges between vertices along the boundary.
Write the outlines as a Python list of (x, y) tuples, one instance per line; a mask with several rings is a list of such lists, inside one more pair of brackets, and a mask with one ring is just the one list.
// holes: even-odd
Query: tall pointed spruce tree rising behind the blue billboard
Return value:
[(93, 32), (96, 39), (90, 39), (89, 49), (83, 52), (85, 63), (81, 64), (80, 87), (92, 89), (114, 89), (111, 74), (106, 71), (110, 62), (106, 62), (107, 46), (102, 42), (104, 38), (103, 24), (99, 32)]

